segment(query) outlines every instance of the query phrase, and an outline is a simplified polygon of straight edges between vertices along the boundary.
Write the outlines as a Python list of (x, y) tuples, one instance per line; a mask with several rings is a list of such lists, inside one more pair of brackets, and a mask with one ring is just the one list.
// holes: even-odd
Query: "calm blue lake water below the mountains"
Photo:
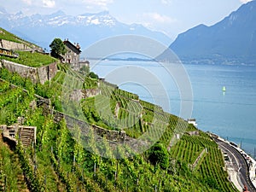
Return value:
[[(220, 137), (241, 144), (248, 154), (254, 155), (256, 148), (256, 67), (246, 66), (220, 66), (220, 65), (189, 65), (185, 64), (184, 72), (189, 78), (193, 90), (193, 111), (191, 116), (196, 119), (198, 128), (202, 131), (211, 131)], [(138, 68), (134, 68), (138, 67)], [(119, 77), (113, 78), (113, 73), (118, 68)], [(125, 71), (125, 68), (127, 69)], [(137, 83), (137, 79), (122, 82), (120, 79), (129, 75), (129, 68), (140, 76), (147, 71), (151, 74), (148, 84)], [(180, 115), (181, 94), (179, 84), (172, 75), (166, 73), (164, 67), (151, 61), (101, 61), (93, 65), (92, 71), (99, 74), (113, 84), (118, 84), (121, 89), (131, 91), (148, 102), (159, 104), (169, 113)], [(126, 74), (127, 72), (128, 74)], [(131, 73), (131, 72), (130, 72)], [(109, 79), (108, 79), (109, 76)], [(159, 79), (158, 83), (152, 83), (149, 79)], [(120, 83), (122, 82), (122, 83)], [(170, 108), (160, 101), (166, 95), (161, 94), (157, 88), (163, 86), (170, 102)], [(151, 86), (151, 90), (148, 89)], [(223, 92), (223, 86), (226, 91)], [(158, 91), (157, 93), (152, 93)], [(154, 95), (154, 96), (152, 96)], [(154, 97), (160, 99), (155, 100)], [(182, 116), (184, 119), (189, 116)]]

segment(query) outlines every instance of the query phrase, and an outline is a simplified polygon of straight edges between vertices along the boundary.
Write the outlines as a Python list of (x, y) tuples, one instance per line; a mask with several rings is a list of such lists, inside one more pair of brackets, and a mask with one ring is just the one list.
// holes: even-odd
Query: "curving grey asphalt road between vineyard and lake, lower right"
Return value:
[(256, 189), (250, 180), (249, 167), (242, 154), (237, 151), (236, 148), (233, 148), (229, 143), (225, 143), (217, 138), (214, 138), (214, 141), (218, 144), (219, 148), (221, 148), (225, 153), (229, 154), (241, 184), (246, 185), (250, 192), (256, 192)]

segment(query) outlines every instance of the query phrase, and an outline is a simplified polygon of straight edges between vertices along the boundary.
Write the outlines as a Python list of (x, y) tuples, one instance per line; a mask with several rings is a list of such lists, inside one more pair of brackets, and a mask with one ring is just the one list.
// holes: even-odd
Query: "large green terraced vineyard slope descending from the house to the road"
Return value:
[[(224, 172), (217, 144), (206, 133), (199, 131), (199, 135), (190, 136), (189, 131), (197, 131), (194, 126), (139, 100), (137, 95), (100, 79), (84, 78), (67, 66), (59, 66), (55, 79), (44, 85), (32, 84), (30, 79), (4, 68), (0, 69), (0, 77), (4, 79), (0, 81), (0, 124), (12, 125), (23, 117), (24, 125), (38, 127), (36, 145), (25, 149), (19, 144), (13, 149), (18, 160), (16, 166), (21, 170), (15, 177), (12, 172), (4, 174), (15, 181), (22, 172), (26, 185), (14, 182), (13, 190), (9, 191), (20, 191), (22, 186), (30, 191), (237, 191)], [(63, 104), (63, 92), (73, 89), (98, 91), (80, 102), (68, 100), (70, 105), (65, 104), (67, 101)], [(84, 119), (91, 126), (125, 131), (129, 138), (139, 138), (148, 130), (163, 134), (148, 151), (128, 158), (126, 152), (132, 148), (113, 150), (106, 137), (102, 138), (102, 145), (97, 145), (90, 130), (85, 150), (83, 138), (88, 136), (83, 135), (79, 126), (73, 127), (73, 135), (79, 136), (74, 139), (65, 119), (56, 122), (54, 113), (49, 113), (45, 105), (32, 105), (32, 101), (37, 101), (34, 94), (50, 99), (50, 108)], [(73, 110), (78, 107), (79, 113)], [(181, 131), (185, 132), (181, 139), (172, 143), (172, 138)], [(1, 144), (0, 150), (4, 148), (7, 147)], [(105, 158), (115, 156), (114, 153), (121, 158)], [(6, 160), (1, 162), (1, 167), (9, 166)]]

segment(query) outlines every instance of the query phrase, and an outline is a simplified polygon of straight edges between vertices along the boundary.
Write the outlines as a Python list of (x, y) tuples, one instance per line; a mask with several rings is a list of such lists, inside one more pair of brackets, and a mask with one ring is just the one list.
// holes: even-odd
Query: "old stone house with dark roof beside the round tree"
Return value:
[(66, 63), (72, 64), (74, 67), (79, 65), (80, 60), (80, 53), (82, 52), (80, 50), (80, 45), (78, 44), (72, 44), (68, 39), (65, 39), (63, 42), (66, 46), (67, 53), (63, 55), (63, 61)]

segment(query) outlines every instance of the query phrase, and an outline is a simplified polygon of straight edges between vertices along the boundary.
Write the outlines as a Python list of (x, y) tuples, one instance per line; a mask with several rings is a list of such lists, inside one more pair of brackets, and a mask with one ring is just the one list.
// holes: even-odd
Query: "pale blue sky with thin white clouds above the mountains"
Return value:
[(126, 24), (143, 24), (174, 39), (199, 24), (211, 26), (251, 0), (0, 0), (8, 13), (81, 15), (108, 10)]

